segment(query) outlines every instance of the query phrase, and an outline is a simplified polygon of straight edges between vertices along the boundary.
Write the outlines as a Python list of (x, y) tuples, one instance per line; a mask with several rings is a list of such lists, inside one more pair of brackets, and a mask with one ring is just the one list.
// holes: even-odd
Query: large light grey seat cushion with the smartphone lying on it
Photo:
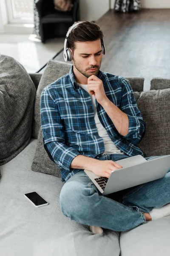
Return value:
[[(37, 140), (1, 166), (1, 256), (119, 256), (119, 232), (104, 229), (93, 235), (86, 225), (63, 215), (59, 195), (62, 181), (31, 171)], [(36, 208), (24, 194), (36, 191), (48, 205)]]

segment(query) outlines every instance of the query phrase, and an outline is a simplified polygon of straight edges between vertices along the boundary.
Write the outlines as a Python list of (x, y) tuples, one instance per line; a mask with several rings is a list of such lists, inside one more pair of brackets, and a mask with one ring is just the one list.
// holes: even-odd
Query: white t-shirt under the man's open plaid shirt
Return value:
[[(77, 83), (77, 84), (88, 92), (88, 84), (79, 84), (79, 83)], [(97, 111), (96, 111), (96, 98), (94, 97), (94, 95), (91, 95), (91, 93), (89, 93), (89, 95), (91, 96), (91, 100), (92, 100), (92, 103), (94, 106), (94, 120), (96, 123), (96, 128), (98, 130), (99, 136), (103, 138), (103, 142), (105, 144), (105, 152), (102, 155), (104, 155), (104, 154), (125, 154), (124, 152), (122, 152), (122, 150), (120, 150), (113, 143), (113, 141), (109, 137), (106, 129), (101, 124), (99, 117), (97, 115)]]

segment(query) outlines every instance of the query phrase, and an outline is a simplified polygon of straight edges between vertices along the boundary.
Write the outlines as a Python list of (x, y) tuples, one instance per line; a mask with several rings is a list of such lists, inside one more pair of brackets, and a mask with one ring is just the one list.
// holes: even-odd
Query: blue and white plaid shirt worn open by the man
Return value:
[[(116, 130), (104, 108), (96, 100), (100, 122), (109, 137), (125, 154), (135, 156), (143, 152), (137, 147), (145, 132), (145, 123), (137, 107), (133, 90), (122, 76), (99, 70), (105, 94), (129, 118), (129, 133), (122, 136)], [(66, 182), (82, 169), (70, 167), (77, 155), (99, 158), (105, 151), (99, 136), (91, 96), (75, 81), (73, 66), (68, 74), (42, 90), (40, 99), (41, 128), (44, 147), (61, 170), (61, 180)]]

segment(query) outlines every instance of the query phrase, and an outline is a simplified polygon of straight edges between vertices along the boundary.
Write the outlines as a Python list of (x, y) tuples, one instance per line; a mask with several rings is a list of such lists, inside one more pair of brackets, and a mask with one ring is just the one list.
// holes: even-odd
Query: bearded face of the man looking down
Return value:
[[(85, 77), (97, 76), (102, 62), (101, 41), (75, 42), (73, 64)], [(96, 68), (95, 70), (90, 70)]]

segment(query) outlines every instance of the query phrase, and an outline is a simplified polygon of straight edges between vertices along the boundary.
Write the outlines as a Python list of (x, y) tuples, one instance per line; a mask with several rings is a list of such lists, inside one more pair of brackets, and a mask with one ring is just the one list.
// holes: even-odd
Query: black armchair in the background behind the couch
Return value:
[(40, 20), (40, 36), (42, 43), (48, 38), (65, 37), (68, 28), (80, 20), (79, 0), (71, 0), (74, 5), (71, 11), (60, 12), (54, 9), (53, 0), (35, 0)]

